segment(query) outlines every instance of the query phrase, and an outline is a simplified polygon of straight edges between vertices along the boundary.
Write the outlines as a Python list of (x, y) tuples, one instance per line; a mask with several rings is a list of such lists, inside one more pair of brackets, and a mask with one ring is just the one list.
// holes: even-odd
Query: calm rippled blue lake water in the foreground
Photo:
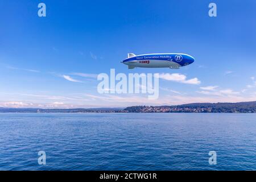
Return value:
[(0, 169), (255, 170), (256, 114), (0, 114)]

